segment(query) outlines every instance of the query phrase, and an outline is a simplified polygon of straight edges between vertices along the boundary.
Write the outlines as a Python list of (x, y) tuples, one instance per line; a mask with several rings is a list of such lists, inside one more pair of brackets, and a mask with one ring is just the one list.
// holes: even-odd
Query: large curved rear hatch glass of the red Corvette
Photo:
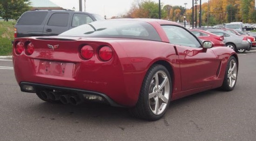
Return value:
[(101, 20), (72, 28), (59, 36), (114, 37), (161, 41), (155, 28), (144, 21)]

